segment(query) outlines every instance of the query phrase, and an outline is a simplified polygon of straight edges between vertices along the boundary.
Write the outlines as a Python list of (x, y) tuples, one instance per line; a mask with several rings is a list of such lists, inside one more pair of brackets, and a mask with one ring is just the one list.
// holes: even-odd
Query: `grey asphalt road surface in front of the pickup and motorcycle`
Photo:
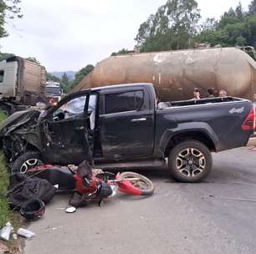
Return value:
[(247, 148), (213, 155), (211, 175), (180, 184), (167, 170), (143, 170), (156, 193), (118, 195), (74, 214), (69, 195), (54, 197), (46, 214), (28, 225), (36, 236), (25, 254), (48, 253), (256, 253), (256, 152)]

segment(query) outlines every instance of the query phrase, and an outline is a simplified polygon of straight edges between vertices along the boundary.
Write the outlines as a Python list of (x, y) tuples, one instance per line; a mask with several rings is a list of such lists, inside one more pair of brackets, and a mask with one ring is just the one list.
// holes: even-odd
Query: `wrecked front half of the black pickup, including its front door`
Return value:
[[(83, 91), (43, 112), (19, 111), (8, 117), (0, 126), (0, 139), (10, 168), (20, 171), (22, 167), (25, 172), (41, 162), (77, 165), (86, 160), (90, 154), (87, 123), (96, 96)], [(17, 166), (18, 158), (23, 162)]]

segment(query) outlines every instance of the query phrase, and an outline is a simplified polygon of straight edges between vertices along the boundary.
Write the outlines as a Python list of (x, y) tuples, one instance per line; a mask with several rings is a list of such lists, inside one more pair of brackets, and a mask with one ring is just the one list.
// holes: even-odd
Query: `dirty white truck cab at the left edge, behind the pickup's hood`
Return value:
[(0, 109), (4, 114), (45, 101), (45, 68), (13, 56), (0, 63)]

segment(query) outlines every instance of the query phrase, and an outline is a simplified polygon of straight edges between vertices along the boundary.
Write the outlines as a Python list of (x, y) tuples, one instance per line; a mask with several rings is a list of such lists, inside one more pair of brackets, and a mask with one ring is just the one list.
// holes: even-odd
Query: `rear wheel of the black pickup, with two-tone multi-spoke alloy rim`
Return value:
[(172, 148), (168, 166), (176, 180), (198, 182), (212, 170), (212, 154), (207, 146), (199, 141), (183, 141)]

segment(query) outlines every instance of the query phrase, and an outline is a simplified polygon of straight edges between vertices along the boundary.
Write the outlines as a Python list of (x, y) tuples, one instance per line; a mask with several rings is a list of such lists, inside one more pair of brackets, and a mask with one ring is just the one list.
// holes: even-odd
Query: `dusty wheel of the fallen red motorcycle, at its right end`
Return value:
[[(138, 180), (130, 180), (131, 178), (137, 178)], [(141, 196), (151, 196), (155, 187), (151, 180), (149, 180), (146, 176), (135, 173), (135, 172), (123, 172), (120, 173), (120, 179), (122, 180), (130, 180), (131, 184), (137, 189), (141, 190)]]

